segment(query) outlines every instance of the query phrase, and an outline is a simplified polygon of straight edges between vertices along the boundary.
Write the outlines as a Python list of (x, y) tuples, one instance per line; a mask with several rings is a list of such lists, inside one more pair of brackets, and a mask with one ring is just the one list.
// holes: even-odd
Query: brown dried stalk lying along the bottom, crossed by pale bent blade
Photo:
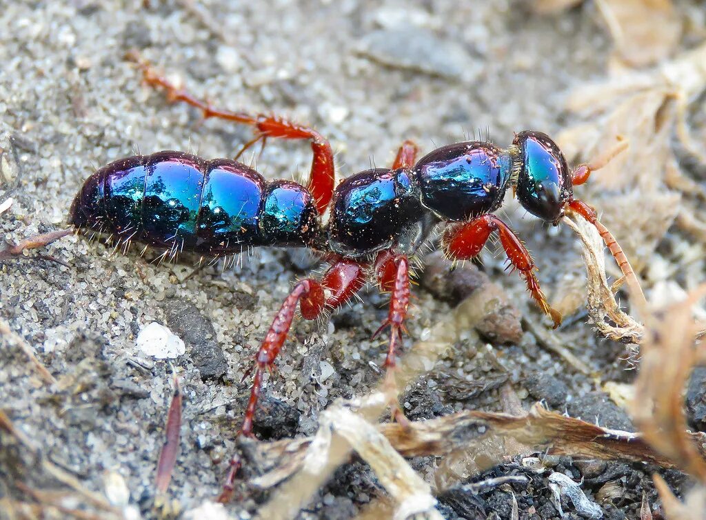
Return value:
[[(342, 405), (337, 406), (340, 408)], [(651, 449), (639, 433), (607, 430), (592, 423), (550, 412), (539, 405), (535, 405), (525, 416), (463, 411), (443, 418), (410, 423), (409, 427), (388, 423), (378, 425), (377, 429), (402, 456), (450, 456), (456, 463), (466, 463), (467, 459), (478, 455), (481, 459), (473, 459), (471, 463), (476, 464), (477, 468), (474, 469), (479, 470), (484, 470), (501, 461), (503, 457), (514, 454), (508, 453), (506, 449), (508, 439), (515, 440), (523, 451), (547, 451), (556, 455), (609, 461), (640, 461), (664, 468), (675, 467), (672, 461)], [(306, 457), (311, 457), (309, 454), (321, 454), (320, 449), (312, 447), (319, 435), (323, 434), (320, 432), (317, 437), (308, 439), (287, 439), (258, 444), (251, 450), (252, 456), (266, 460), (268, 466), (274, 469), (251, 480), (251, 485), (271, 488), (300, 471), (306, 464)], [(690, 437), (695, 443), (703, 443), (706, 440), (706, 435), (701, 433), (690, 434)], [(333, 442), (331, 445), (333, 446)], [(483, 451), (491, 445), (498, 446), (497, 454)], [(312, 474), (320, 475), (330, 463), (331, 457), (331, 447), (327, 456), (317, 455), (313, 459), (318, 461), (317, 471)], [(311, 470), (311, 466), (309, 469)], [(296, 482), (287, 483), (291, 484), (292, 488), (309, 486), (309, 478), (294, 480)], [(448, 484), (450, 485), (450, 480)]]

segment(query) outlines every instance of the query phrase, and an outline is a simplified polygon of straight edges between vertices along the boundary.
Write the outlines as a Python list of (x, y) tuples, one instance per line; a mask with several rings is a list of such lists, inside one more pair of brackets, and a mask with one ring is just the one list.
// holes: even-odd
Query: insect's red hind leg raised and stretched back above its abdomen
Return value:
[[(246, 144), (240, 153), (256, 143), (260, 139), (268, 137), (279, 137), (282, 139), (309, 139), (311, 141), (311, 151), (313, 160), (311, 162), (311, 174), (309, 175), (309, 191), (316, 201), (318, 212), (323, 215), (328, 203), (333, 196), (333, 184), (335, 180), (335, 170), (333, 165), (333, 150), (328, 140), (309, 126), (293, 123), (277, 116), (267, 116), (264, 114), (247, 114), (246, 112), (231, 112), (220, 110), (209, 102), (200, 100), (191, 95), (186, 90), (177, 88), (164, 76), (160, 76), (150, 64), (145, 61), (137, 52), (128, 53), (128, 58), (136, 61), (143, 72), (145, 83), (155, 88), (163, 88), (167, 92), (167, 100), (171, 102), (181, 101), (192, 107), (196, 107), (203, 112), (204, 119), (217, 117), (227, 121), (249, 124), (256, 128), (256, 138)], [(264, 146), (264, 143), (263, 143)], [(238, 154), (240, 155), (240, 154)]]

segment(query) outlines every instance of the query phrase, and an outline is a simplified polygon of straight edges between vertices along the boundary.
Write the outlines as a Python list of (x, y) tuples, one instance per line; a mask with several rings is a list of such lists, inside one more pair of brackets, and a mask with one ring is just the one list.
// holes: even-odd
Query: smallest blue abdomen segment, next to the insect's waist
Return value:
[(318, 229), (318, 213), (309, 191), (300, 184), (275, 181), (268, 186), (259, 228), (265, 244), (306, 244)]

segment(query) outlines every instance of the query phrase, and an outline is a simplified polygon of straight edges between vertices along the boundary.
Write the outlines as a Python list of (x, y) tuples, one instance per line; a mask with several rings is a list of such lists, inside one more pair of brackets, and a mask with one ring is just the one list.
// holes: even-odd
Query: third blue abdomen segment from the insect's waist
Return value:
[(175, 152), (155, 153), (148, 159), (142, 205), (145, 240), (167, 247), (195, 246), (203, 161)]

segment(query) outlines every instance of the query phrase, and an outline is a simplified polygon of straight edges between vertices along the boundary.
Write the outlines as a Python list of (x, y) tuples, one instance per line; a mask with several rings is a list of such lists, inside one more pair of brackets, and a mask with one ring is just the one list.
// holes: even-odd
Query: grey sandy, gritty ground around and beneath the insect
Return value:
[[(568, 122), (564, 96), (601, 78), (611, 49), (592, 2), (558, 16), (537, 16), (512, 1), (210, 0), (194, 7), (4, 0), (0, 27), (0, 201), (14, 200), (0, 217), (0, 231), (13, 241), (61, 228), (74, 194), (95, 167), (136, 150), (232, 156), (250, 137), (249, 129), (232, 124), (201, 124), (196, 111), (170, 106), (145, 88), (124, 60), (128, 49), (140, 49), (169, 77), (217, 105), (316, 125), (331, 139), (340, 177), (389, 164), (405, 138), (429, 151), (479, 131), (501, 146), (520, 129), (556, 134)], [(306, 145), (271, 142), (256, 166), (268, 179), (289, 178), (305, 174), (309, 161)], [(567, 279), (583, 276), (569, 230), (539, 225), (514, 201), (501, 213), (535, 252), (550, 300), (561, 296)], [(152, 518), (155, 466), (177, 372), (184, 427), (170, 494), (183, 509), (213, 497), (248, 393), (241, 378), (290, 283), (316, 260), (264, 249), (233, 268), (196, 270), (189, 261), (157, 266), (149, 262), (154, 255), (141, 258), (134, 249), (111, 255), (109, 247), (85, 237), (60, 240), (48, 253), (68, 267), (42, 259), (0, 264), (0, 317), (59, 385), (44, 386), (8, 341), (1, 354), (1, 408), (88, 488), (102, 491), (106, 472), (119, 473), (131, 503)], [(522, 316), (544, 329), (520, 280), (502, 273), (503, 256), (491, 248), (483, 261)], [(424, 336), (450, 310), (423, 288), (415, 294), (410, 338)], [(318, 414), (335, 398), (363, 394), (378, 382), (385, 349), (369, 338), (385, 317), (385, 305), (385, 297), (370, 290), (328, 323), (294, 327), (275, 384), (265, 391), (261, 437), (311, 435)], [(136, 336), (152, 321), (181, 331), (186, 355), (172, 362), (146, 359)], [(624, 345), (596, 338), (585, 313), (568, 317), (551, 334), (606, 380), (632, 379), (620, 361)], [(517, 339), (499, 345), (469, 331), (428, 377), (407, 389), (402, 401), (410, 417), (501, 410), (499, 385), (459, 396), (453, 377), (503, 377), (526, 406), (544, 399), (560, 412), (630, 429), (625, 411), (542, 348), (527, 324)], [(26, 454), (8, 453), (0, 457), (0, 495), (23, 497), (14, 484), (18, 478), (33, 488), (56, 487)], [(422, 475), (431, 474), (424, 469), (430, 464), (415, 461)], [(606, 518), (635, 518), (643, 490), (654, 498), (649, 471), (641, 466), (603, 464), (587, 473), (587, 466), (568, 459), (546, 464), (577, 482), (585, 478), (582, 489), (592, 500), (606, 482), (617, 482), (621, 495), (599, 502)], [(448, 518), (486, 518), (493, 511), (496, 518), (509, 518), (508, 492), (486, 495), (483, 514), (462, 492), (454, 493), (440, 497)], [(558, 517), (546, 489), (518, 493), (520, 518)], [(374, 475), (357, 462), (340, 470), (302, 517), (351, 517), (381, 494)], [(240, 496), (228, 509), (245, 517), (264, 500), (246, 486)], [(568, 517), (576, 517), (567, 509)]]

